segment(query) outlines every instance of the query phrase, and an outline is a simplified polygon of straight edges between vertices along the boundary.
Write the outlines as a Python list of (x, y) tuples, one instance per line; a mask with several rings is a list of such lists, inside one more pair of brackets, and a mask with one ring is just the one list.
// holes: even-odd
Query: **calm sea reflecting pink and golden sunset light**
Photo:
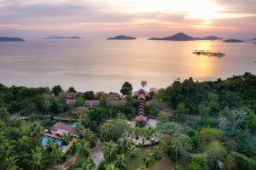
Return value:
[[(197, 56), (195, 49), (226, 54)], [(215, 80), (256, 73), (256, 45), (220, 41), (34, 40), (0, 43), (0, 82), (5, 85), (73, 86), (79, 91), (119, 91), (125, 81), (166, 88), (177, 78)]]

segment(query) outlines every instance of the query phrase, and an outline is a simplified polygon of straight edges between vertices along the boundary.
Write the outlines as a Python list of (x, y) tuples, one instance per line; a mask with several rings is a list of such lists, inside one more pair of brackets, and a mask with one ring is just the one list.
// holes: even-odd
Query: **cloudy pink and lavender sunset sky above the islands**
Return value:
[(0, 36), (256, 37), (256, 0), (0, 0)]

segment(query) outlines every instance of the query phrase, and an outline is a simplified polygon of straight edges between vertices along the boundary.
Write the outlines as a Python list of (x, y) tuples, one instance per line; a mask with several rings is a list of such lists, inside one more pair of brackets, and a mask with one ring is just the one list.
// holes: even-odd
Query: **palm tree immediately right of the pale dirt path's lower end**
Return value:
[(117, 145), (112, 141), (106, 142), (103, 144), (102, 150), (104, 151), (105, 159), (108, 161), (113, 161), (117, 152)]

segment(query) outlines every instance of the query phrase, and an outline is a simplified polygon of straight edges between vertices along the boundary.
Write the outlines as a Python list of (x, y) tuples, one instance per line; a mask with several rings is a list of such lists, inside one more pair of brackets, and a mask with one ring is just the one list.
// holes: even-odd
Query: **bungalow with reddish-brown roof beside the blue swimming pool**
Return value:
[(63, 122), (57, 122), (54, 126), (49, 127), (49, 129), (46, 130), (46, 135), (61, 139), (63, 133), (67, 133), (71, 138), (77, 138), (78, 133), (76, 132), (76, 129), (72, 127), (72, 125), (63, 123)]

